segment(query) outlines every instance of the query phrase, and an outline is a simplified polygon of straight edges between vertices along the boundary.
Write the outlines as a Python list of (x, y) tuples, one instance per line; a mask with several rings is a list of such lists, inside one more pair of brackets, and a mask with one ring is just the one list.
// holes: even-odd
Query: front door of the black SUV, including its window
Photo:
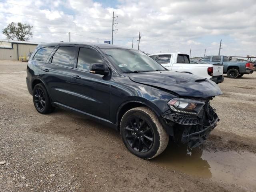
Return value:
[(100, 118), (109, 119), (110, 82), (103, 75), (89, 72), (90, 64), (104, 63), (100, 53), (91, 47), (80, 47), (71, 73), (72, 107)]

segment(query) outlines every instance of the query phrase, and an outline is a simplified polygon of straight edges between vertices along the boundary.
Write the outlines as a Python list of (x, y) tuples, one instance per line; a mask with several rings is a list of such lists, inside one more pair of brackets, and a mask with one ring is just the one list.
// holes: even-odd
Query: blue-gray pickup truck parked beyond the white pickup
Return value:
[(205, 56), (201, 61), (210, 64), (223, 64), (223, 73), (227, 74), (229, 78), (242, 77), (244, 74), (253, 73), (253, 64), (246, 61), (230, 61), (227, 56)]

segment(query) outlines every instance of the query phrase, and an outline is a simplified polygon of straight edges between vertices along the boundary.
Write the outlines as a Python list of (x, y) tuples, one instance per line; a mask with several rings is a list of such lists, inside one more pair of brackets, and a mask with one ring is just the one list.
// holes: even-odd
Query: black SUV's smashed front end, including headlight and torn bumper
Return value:
[(162, 114), (162, 118), (174, 141), (181, 141), (188, 148), (195, 148), (206, 140), (219, 121), (210, 106), (210, 100), (212, 97), (174, 98), (168, 102), (170, 109)]

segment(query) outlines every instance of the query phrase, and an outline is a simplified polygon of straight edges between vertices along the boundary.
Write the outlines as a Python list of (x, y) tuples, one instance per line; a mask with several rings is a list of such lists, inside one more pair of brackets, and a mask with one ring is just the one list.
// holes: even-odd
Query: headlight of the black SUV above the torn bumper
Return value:
[(173, 98), (167, 104), (176, 113), (198, 115), (205, 103), (196, 100)]

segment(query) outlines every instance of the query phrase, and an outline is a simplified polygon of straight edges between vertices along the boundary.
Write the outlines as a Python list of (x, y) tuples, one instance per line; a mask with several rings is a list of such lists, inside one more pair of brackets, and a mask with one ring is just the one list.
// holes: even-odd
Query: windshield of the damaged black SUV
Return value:
[(101, 49), (121, 72), (138, 73), (166, 69), (146, 54), (129, 49)]

